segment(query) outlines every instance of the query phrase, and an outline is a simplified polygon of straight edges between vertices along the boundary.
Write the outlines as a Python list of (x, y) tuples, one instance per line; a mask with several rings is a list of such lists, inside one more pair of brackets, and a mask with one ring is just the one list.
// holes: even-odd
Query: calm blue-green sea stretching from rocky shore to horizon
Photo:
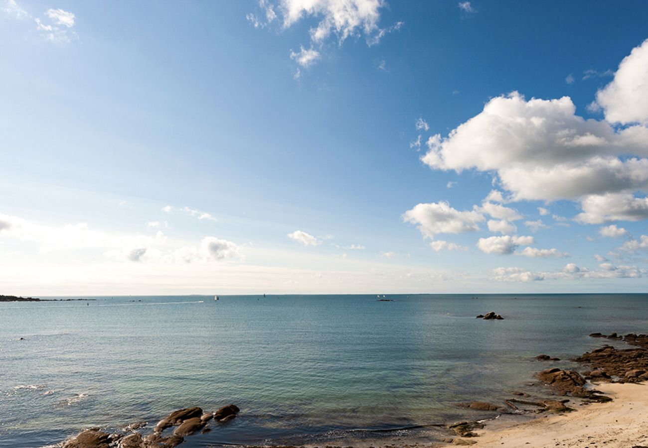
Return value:
[(550, 365), (535, 355), (568, 366), (592, 332), (648, 330), (641, 294), (87, 298), (0, 303), (0, 446), (229, 403), (183, 446), (434, 440), (483, 418), (457, 401), (526, 387)]

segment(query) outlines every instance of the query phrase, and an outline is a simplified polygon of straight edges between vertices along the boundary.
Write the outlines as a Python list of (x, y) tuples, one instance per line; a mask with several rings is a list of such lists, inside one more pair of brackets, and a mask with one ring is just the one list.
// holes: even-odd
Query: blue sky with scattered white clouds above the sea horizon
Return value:
[(646, 23), (0, 0), (0, 294), (645, 292)]

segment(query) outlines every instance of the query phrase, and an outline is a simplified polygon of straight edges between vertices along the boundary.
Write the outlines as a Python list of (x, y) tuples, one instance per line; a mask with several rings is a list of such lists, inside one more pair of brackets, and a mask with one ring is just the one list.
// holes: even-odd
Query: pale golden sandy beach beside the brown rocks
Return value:
[(579, 406), (577, 412), (542, 416), (514, 427), (477, 431), (476, 447), (648, 446), (648, 386), (601, 383), (613, 401)]

